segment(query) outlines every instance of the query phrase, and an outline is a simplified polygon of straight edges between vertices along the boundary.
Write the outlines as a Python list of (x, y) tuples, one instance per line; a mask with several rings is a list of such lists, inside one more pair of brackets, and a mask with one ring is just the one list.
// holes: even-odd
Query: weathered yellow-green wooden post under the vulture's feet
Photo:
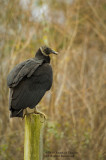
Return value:
[(40, 114), (25, 116), (24, 160), (43, 160), (43, 126)]

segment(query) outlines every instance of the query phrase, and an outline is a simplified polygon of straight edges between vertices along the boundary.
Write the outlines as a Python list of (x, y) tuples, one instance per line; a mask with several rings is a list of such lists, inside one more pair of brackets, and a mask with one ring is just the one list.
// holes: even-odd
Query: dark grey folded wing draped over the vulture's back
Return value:
[(17, 86), (25, 76), (30, 77), (42, 63), (43, 60), (29, 59), (16, 65), (7, 77), (8, 87)]

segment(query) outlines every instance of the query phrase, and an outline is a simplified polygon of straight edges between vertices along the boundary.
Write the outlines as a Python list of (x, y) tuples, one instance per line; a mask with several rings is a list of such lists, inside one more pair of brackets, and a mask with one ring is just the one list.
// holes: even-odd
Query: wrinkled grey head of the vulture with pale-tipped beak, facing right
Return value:
[(51, 48), (49, 48), (48, 46), (41, 46), (40, 47), (40, 50), (41, 50), (41, 52), (42, 52), (42, 54), (44, 55), (44, 56), (49, 56), (49, 54), (58, 54), (58, 52), (56, 52), (56, 51), (54, 51), (54, 50), (52, 50)]

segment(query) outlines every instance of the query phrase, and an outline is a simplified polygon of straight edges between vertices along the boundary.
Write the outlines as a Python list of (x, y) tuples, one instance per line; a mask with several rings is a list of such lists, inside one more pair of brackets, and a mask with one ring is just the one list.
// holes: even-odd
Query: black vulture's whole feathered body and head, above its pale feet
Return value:
[(57, 54), (47, 46), (41, 46), (35, 57), (16, 65), (7, 77), (10, 88), (10, 117), (23, 117), (27, 107), (33, 109), (52, 86), (53, 73), (50, 54)]

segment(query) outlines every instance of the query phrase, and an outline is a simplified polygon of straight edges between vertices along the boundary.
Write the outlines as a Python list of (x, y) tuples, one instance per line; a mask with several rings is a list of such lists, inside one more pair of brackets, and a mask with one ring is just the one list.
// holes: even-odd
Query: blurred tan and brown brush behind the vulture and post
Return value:
[(0, 1), (0, 160), (23, 160), (24, 154), (24, 120), (9, 118), (7, 75), (44, 44), (59, 52), (51, 57), (52, 89), (39, 106), (48, 116), (44, 154), (105, 160), (105, 0)]

